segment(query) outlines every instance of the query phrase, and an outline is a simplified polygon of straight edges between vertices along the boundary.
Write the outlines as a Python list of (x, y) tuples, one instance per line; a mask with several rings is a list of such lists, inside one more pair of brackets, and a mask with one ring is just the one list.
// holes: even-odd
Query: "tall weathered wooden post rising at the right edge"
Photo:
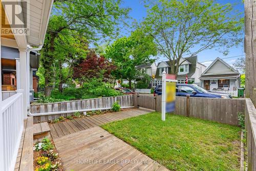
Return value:
[(256, 1), (245, 0), (245, 54), (246, 54), (246, 72), (245, 72), (245, 96), (249, 97), (256, 105)]

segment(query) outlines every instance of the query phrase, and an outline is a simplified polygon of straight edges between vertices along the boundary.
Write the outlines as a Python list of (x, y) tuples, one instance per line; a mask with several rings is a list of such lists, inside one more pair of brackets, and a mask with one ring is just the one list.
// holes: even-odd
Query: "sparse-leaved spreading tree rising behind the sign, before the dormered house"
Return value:
[(183, 55), (196, 55), (215, 47), (227, 54), (229, 47), (243, 39), (243, 17), (233, 11), (231, 4), (158, 0), (147, 1), (145, 6), (147, 16), (139, 27), (154, 38), (158, 52), (170, 61), (172, 74), (178, 73)]

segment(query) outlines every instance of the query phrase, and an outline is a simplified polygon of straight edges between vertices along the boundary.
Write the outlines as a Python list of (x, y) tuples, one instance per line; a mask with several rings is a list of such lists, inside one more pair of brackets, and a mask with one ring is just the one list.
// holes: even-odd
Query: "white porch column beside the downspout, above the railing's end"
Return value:
[(27, 99), (28, 99), (28, 78), (27, 78), (27, 50), (19, 49), (19, 60), (20, 60), (20, 89), (24, 90), (23, 93), (23, 110), (24, 110), (24, 119), (28, 116), (28, 108), (27, 108)]

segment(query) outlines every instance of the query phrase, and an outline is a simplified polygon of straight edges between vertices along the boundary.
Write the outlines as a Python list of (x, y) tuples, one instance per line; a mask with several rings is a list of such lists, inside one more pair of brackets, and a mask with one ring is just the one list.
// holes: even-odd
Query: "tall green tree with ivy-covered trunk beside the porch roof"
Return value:
[(84, 37), (88, 42), (95, 43), (100, 38), (115, 37), (121, 19), (127, 17), (129, 9), (120, 8), (120, 0), (55, 0), (52, 16), (49, 20), (48, 31), (42, 49), (41, 66), (45, 69), (45, 95), (49, 96), (53, 84), (53, 65), (56, 39), (62, 35)]

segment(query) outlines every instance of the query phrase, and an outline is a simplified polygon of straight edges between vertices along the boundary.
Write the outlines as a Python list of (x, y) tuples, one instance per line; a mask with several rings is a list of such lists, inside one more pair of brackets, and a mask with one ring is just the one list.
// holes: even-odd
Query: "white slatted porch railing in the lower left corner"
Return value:
[(0, 170), (14, 170), (23, 132), (23, 93), (0, 102)]

